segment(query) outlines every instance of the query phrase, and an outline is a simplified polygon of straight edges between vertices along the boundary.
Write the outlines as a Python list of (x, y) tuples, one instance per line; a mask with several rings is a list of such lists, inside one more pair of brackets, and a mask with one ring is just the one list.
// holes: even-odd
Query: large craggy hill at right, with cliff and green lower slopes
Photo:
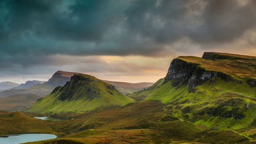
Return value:
[(172, 61), (166, 78), (130, 96), (142, 102), (160, 100), (168, 104), (164, 110), (171, 109), (172, 116), (196, 126), (244, 128), (256, 118), (256, 68), (251, 65), (256, 58), (250, 56), (244, 63), (237, 62), (241, 55), (236, 56), (228, 54), (229, 60), (225, 54), (224, 60), (180, 56)]

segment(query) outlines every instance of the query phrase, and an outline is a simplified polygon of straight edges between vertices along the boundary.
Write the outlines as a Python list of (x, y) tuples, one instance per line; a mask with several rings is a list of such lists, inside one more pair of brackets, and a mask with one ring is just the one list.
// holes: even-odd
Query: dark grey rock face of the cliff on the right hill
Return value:
[(172, 60), (164, 83), (168, 82), (169, 80), (173, 80), (173, 87), (176, 87), (179, 84), (188, 84), (188, 89), (191, 89), (198, 85), (204, 84), (208, 80), (211, 80), (209, 83), (215, 83), (217, 77), (220, 77), (226, 82), (232, 81), (242, 84), (242, 81), (234, 80), (228, 74), (205, 70), (205, 68), (200, 67), (200, 64), (186, 62), (179, 58)]

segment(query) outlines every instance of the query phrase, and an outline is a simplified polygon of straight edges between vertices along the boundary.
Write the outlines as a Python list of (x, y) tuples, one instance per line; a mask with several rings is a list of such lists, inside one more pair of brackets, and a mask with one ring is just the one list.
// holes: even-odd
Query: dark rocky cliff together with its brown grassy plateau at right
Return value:
[[(217, 78), (225, 82), (242, 84), (243, 78), (250, 86), (256, 86), (256, 69), (246, 63), (256, 63), (253, 56), (232, 55), (205, 52), (202, 58), (180, 56), (172, 60), (164, 84), (172, 80), (172, 86), (188, 85), (188, 89), (195, 88), (205, 82), (216, 83)], [(237, 62), (237, 60), (246, 60)]]

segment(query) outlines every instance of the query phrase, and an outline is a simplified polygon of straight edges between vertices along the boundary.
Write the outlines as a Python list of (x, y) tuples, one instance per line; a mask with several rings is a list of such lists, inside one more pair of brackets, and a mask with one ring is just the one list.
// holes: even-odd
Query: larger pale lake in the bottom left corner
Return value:
[(0, 144), (20, 144), (57, 138), (54, 134), (15, 134), (0, 136)]

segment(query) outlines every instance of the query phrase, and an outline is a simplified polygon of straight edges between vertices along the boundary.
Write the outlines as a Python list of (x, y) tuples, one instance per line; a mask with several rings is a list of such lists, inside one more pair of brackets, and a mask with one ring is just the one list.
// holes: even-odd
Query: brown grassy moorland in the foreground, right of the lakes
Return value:
[(206, 126), (198, 126), (189, 120), (179, 120), (168, 104), (152, 100), (104, 112), (89, 112), (82, 118), (65, 121), (52, 128), (67, 135), (63, 138), (41, 141), (40, 144), (249, 142), (243, 132), (213, 130)]

